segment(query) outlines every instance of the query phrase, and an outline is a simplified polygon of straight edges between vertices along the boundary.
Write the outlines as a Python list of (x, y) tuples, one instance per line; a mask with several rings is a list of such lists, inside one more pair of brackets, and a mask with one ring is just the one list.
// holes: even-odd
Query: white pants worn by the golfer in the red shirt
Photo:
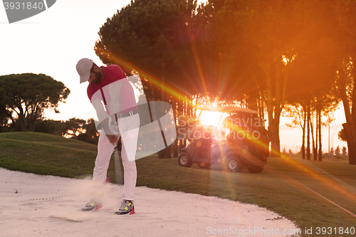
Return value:
[[(137, 169), (135, 162), (137, 136), (140, 127), (138, 114), (122, 117), (117, 120), (119, 137), (122, 143), (122, 165), (124, 167), (124, 199), (135, 199), (135, 186), (137, 180)], [(110, 143), (104, 132), (101, 133), (98, 142), (98, 155), (95, 160), (93, 180), (104, 182), (107, 178), (108, 167), (112, 152), (116, 144)]]

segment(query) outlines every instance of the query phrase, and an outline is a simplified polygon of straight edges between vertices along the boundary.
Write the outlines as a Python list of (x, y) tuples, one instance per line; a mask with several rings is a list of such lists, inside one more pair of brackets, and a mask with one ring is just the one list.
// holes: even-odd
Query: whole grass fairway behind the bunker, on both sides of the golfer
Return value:
[[(96, 157), (96, 152), (81, 149), (83, 146), (54, 135), (0, 133), (0, 167), (83, 177), (92, 174)], [(294, 221), (302, 236), (310, 236), (304, 233), (305, 228), (313, 227), (311, 236), (323, 236), (316, 235), (317, 227), (356, 228), (356, 217), (352, 215), (356, 214), (356, 166), (342, 159), (316, 162), (297, 156), (270, 157), (261, 174), (251, 174), (246, 169), (241, 173), (225, 172), (219, 165), (211, 169), (200, 169), (197, 164), (184, 168), (178, 166), (177, 158), (157, 159), (152, 155), (137, 160), (137, 174), (137, 186), (219, 196), (265, 207)], [(114, 159), (108, 176), (115, 181)]]

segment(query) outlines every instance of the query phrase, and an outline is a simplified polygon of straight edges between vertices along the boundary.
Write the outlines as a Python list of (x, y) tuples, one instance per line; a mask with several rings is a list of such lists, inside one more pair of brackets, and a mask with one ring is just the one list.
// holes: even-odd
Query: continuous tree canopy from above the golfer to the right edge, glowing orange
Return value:
[[(267, 112), (276, 154), (285, 105), (303, 106), (308, 120), (315, 110), (321, 132), (322, 112), (342, 99), (350, 149), (356, 147), (355, 15), (349, 0), (209, 0), (199, 6), (136, 0), (103, 24), (95, 53), (105, 64), (140, 73), (154, 98), (164, 93), (153, 87), (159, 92), (172, 85)], [(350, 157), (356, 164), (356, 148)]]

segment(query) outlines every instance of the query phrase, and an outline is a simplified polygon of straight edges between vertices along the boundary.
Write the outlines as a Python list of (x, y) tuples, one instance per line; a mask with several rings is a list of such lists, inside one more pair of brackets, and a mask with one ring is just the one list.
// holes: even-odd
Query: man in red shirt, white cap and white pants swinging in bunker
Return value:
[[(101, 130), (98, 155), (95, 159), (93, 181), (104, 183), (112, 152), (122, 137), (122, 165), (124, 167), (124, 200), (117, 215), (135, 214), (133, 201), (137, 170), (135, 154), (140, 117), (134, 90), (119, 65), (98, 67), (92, 60), (82, 58), (76, 65), (80, 83), (89, 82), (87, 93), (95, 108)], [(102, 200), (93, 197), (82, 211), (95, 211), (103, 206)]]

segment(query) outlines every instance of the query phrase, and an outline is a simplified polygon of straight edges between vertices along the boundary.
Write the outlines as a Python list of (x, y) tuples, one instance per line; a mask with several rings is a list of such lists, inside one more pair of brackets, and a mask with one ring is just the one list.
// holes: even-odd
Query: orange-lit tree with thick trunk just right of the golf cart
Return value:
[(271, 138), (271, 155), (279, 157), (279, 122), (286, 105), (288, 65), (283, 58), (293, 58), (293, 38), (296, 31), (293, 21), (293, 4), (283, 1), (256, 1), (254, 14), (247, 25), (247, 38), (256, 54), (256, 62), (263, 72), (261, 84), (266, 88), (268, 137)]

